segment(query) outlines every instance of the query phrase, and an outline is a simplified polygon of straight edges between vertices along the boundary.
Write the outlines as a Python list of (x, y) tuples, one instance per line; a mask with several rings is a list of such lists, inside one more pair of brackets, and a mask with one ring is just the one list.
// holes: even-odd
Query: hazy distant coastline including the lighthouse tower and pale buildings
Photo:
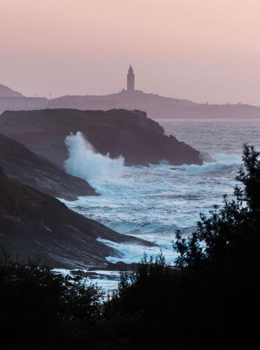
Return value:
[(260, 107), (248, 104), (205, 104), (187, 99), (163, 97), (154, 93), (135, 90), (135, 74), (130, 65), (127, 74), (127, 89), (108, 95), (66, 95), (48, 100), (45, 97), (26, 97), (0, 84), (0, 114), (5, 110), (38, 109), (142, 110), (152, 119), (256, 119)]

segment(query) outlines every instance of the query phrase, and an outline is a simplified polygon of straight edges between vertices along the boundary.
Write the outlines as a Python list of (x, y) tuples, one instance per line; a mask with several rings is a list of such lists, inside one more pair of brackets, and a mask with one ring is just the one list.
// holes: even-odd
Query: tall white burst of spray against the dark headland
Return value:
[(65, 161), (67, 173), (90, 182), (102, 182), (120, 175), (124, 166), (122, 156), (111, 159), (109, 153), (97, 153), (94, 147), (78, 131), (65, 139), (68, 159)]

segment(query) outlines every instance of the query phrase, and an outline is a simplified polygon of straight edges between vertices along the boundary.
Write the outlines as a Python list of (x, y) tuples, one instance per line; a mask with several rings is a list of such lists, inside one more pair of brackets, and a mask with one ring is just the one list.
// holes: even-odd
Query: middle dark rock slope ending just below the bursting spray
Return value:
[(97, 195), (89, 184), (29, 151), (20, 142), (0, 134), (0, 165), (8, 177), (51, 196), (76, 200)]

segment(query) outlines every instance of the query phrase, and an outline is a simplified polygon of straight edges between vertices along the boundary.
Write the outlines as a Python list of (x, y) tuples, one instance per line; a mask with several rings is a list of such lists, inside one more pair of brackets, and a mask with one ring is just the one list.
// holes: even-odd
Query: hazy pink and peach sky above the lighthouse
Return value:
[(260, 0), (0, 0), (0, 84), (260, 105)]

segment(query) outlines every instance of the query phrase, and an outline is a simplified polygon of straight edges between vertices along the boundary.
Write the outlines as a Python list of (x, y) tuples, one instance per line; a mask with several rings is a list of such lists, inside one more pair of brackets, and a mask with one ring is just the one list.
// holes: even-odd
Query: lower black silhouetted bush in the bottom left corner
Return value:
[(81, 275), (54, 274), (40, 261), (13, 260), (2, 250), (2, 349), (73, 349), (91, 343), (102, 294)]

